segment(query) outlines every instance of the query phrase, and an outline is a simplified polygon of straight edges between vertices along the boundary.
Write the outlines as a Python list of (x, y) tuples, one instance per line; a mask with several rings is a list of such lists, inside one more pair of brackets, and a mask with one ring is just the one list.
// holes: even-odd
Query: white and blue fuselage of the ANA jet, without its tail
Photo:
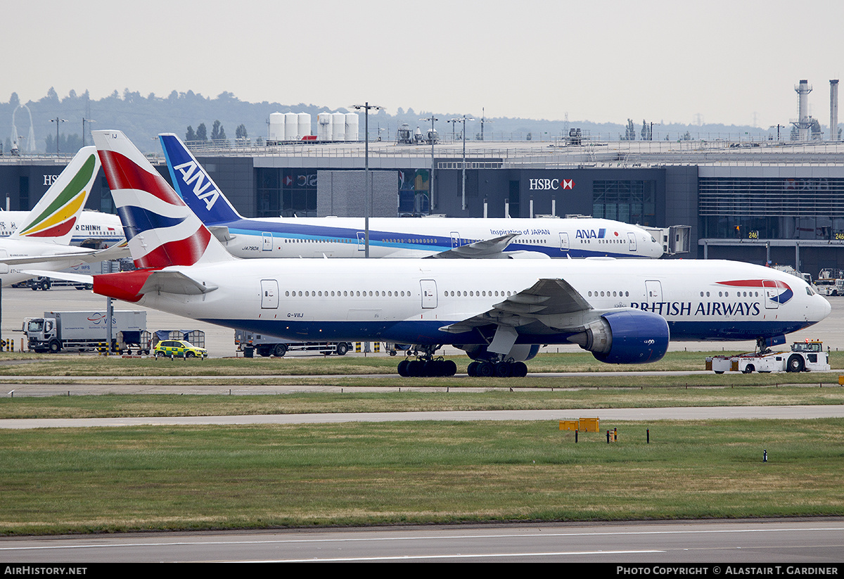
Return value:
[[(236, 257), (365, 257), (363, 218), (262, 218), (217, 224)], [(519, 234), (505, 252), (538, 257), (661, 257), (646, 230), (609, 219), (372, 218), (370, 257), (426, 257)]]

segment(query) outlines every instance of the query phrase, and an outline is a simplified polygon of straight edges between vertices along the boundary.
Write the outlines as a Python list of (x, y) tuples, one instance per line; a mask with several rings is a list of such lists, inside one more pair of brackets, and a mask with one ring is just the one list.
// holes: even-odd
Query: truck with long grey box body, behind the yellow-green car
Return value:
[[(111, 336), (114, 349), (143, 349), (147, 312), (114, 311)], [(108, 344), (108, 320), (105, 311), (45, 311), (44, 317), (26, 317), (21, 331), (29, 349), (57, 354), (63, 349), (90, 350)], [(149, 345), (147, 345), (149, 348)]]

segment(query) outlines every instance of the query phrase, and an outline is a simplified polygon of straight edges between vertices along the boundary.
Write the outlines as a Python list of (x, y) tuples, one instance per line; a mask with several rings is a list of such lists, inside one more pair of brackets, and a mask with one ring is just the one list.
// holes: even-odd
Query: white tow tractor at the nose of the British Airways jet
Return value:
[(706, 358), (706, 370), (724, 372), (828, 372), (829, 353), (823, 342), (806, 340), (792, 344), (790, 352), (751, 352), (735, 356)]

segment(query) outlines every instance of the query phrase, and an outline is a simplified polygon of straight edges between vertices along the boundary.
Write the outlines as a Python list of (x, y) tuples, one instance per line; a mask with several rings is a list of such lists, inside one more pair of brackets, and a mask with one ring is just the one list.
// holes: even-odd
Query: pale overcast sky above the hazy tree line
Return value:
[[(3, 8), (0, 100), (85, 89), (394, 113), (770, 127), (829, 122), (837, 0), (30, 0)], [(842, 78), (844, 80), (844, 78)], [(844, 119), (844, 115), (841, 115)]]

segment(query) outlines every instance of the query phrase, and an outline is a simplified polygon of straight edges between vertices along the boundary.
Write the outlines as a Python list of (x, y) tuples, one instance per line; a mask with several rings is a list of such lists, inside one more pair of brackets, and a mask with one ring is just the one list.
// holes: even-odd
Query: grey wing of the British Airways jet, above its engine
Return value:
[[(491, 310), (440, 329), (464, 333), (476, 327), (495, 325), (515, 328), (540, 322), (554, 331), (574, 330), (582, 325), (577, 322), (580, 314), (590, 310), (592, 306), (589, 302), (565, 279), (539, 279), (531, 287), (495, 304)], [(565, 327), (557, 327), (555, 322)]]

